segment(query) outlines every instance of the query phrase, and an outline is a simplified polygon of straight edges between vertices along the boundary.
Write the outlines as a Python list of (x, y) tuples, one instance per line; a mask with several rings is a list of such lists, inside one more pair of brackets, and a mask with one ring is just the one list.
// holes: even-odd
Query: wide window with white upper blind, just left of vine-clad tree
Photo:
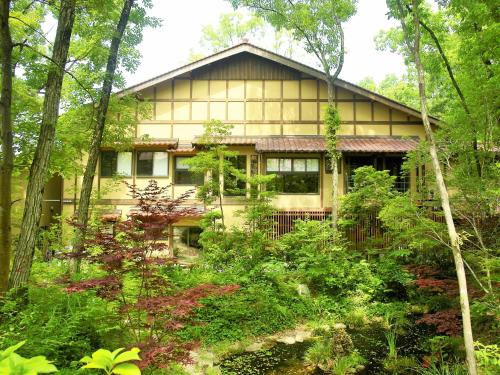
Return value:
[(276, 174), (274, 188), (280, 193), (319, 193), (319, 159), (268, 158), (266, 171)]

